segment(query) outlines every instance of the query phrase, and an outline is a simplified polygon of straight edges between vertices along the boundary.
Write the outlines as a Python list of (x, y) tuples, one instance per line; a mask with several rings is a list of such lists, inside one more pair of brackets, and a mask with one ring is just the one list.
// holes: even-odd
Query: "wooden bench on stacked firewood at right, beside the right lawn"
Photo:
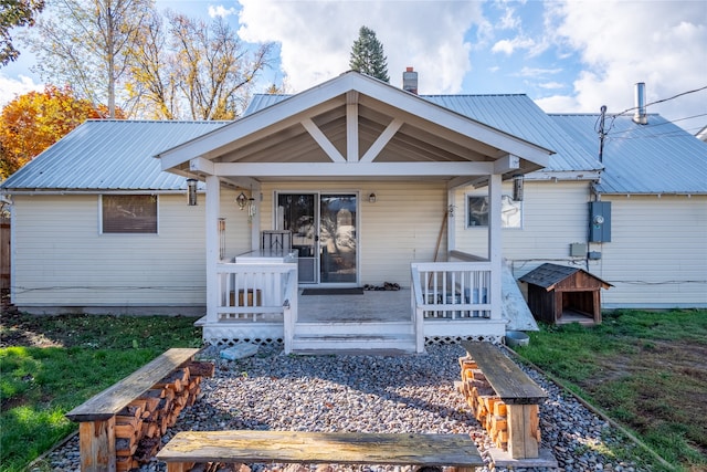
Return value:
[[(462, 380), (467, 379), (474, 371), (474, 365), (490, 385), (496, 397), (503, 402), (507, 421), (507, 450), (510, 458), (538, 459), (540, 457), (539, 403), (547, 394), (532, 381), (513, 360), (504, 355), (497, 346), (490, 343), (462, 342), (462, 346), (471, 357), (469, 369), (462, 363)], [(488, 400), (487, 397), (484, 400)], [(490, 401), (494, 403), (494, 401)], [(485, 421), (487, 431), (495, 428), (498, 418), (496, 411), (488, 411), (492, 421)], [(478, 418), (478, 417), (477, 417)], [(496, 431), (494, 431), (495, 433)], [(503, 441), (504, 443), (506, 441)]]

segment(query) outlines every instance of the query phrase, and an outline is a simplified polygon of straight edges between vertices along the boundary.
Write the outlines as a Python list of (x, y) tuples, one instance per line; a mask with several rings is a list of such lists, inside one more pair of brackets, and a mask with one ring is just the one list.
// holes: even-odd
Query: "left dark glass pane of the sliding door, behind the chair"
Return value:
[(298, 251), (300, 283), (316, 283), (315, 195), (281, 193), (277, 196), (278, 229), (292, 231), (292, 248)]

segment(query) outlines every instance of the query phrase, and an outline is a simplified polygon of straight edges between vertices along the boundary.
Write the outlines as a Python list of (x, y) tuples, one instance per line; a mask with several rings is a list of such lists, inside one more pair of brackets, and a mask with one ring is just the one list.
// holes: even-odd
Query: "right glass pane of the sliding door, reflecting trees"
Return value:
[(356, 195), (321, 195), (319, 281), (356, 283)]

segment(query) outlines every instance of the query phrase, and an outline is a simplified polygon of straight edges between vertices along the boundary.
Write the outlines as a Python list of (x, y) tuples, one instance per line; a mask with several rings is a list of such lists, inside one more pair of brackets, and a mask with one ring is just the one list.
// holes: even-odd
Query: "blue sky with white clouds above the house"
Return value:
[[(526, 94), (547, 113), (634, 107), (696, 134), (707, 126), (705, 0), (157, 0), (160, 9), (220, 15), (246, 43), (276, 44), (255, 91), (302, 92), (349, 66), (361, 25), (383, 45), (392, 85), (414, 67), (420, 94)], [(21, 44), (20, 44), (21, 45)], [(23, 48), (0, 67), (0, 106), (42, 90)], [(698, 91), (698, 92), (693, 92)], [(677, 96), (680, 95), (680, 96)], [(677, 97), (676, 97), (677, 96)], [(654, 102), (661, 102), (653, 104)]]

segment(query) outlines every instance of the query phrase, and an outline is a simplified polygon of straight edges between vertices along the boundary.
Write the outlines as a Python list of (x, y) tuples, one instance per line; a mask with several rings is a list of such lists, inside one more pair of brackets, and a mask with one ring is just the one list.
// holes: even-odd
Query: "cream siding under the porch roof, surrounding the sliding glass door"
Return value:
[[(445, 212), (442, 182), (267, 182), (263, 186), (261, 229), (274, 228), (275, 191), (358, 192), (360, 284), (395, 282), (410, 286), (410, 263), (434, 260), (434, 250)], [(368, 201), (374, 192), (376, 203)], [(446, 256), (446, 231), (440, 260)]]

